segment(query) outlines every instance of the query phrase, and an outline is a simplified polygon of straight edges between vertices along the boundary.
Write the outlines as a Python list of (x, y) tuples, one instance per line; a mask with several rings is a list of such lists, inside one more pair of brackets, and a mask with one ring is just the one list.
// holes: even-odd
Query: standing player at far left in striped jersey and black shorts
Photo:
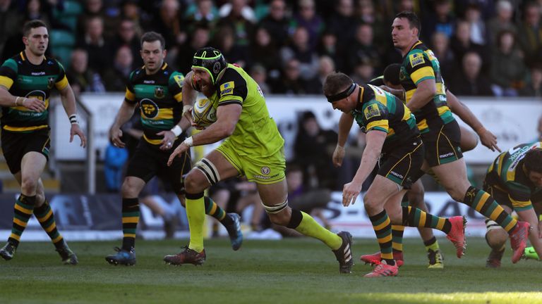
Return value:
[(49, 98), (53, 88), (60, 92), (62, 106), (71, 122), (70, 142), (77, 135), (86, 146), (76, 109), (76, 98), (62, 65), (46, 58), (49, 44), (47, 26), (32, 20), (23, 26), (25, 49), (6, 60), (0, 68), (2, 106), (2, 150), (11, 174), (20, 184), (20, 196), (13, 210), (13, 228), (6, 246), (0, 249), (4, 260), (11, 260), (28, 220), (35, 215), (51, 238), (64, 264), (76, 265), (77, 256), (68, 248), (47, 203), (40, 175), (49, 159)]

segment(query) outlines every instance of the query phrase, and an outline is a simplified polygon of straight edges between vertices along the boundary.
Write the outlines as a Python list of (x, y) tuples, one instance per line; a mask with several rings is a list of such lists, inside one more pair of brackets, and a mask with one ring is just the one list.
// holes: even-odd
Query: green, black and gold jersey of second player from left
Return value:
[(167, 63), (152, 75), (147, 75), (145, 67), (131, 73), (124, 99), (139, 104), (143, 139), (149, 144), (159, 145), (164, 137), (157, 133), (171, 129), (181, 120), (183, 80), (184, 76)]

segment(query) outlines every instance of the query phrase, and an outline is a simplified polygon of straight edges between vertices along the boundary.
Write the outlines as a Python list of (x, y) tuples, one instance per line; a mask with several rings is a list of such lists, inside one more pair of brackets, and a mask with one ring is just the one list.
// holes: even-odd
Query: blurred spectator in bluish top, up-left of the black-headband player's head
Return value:
[(300, 63), (301, 78), (311, 80), (318, 72), (318, 56), (308, 44), (308, 31), (305, 27), (297, 27), (291, 36), (288, 46), (280, 50), (282, 62), (295, 58)]

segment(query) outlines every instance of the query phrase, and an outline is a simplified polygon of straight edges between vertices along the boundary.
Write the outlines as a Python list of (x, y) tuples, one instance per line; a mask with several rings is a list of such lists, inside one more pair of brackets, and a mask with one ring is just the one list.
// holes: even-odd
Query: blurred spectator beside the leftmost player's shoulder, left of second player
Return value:
[(66, 77), (76, 97), (85, 91), (105, 91), (100, 75), (88, 67), (88, 53), (84, 49), (75, 49), (71, 53), (71, 64), (66, 71)]

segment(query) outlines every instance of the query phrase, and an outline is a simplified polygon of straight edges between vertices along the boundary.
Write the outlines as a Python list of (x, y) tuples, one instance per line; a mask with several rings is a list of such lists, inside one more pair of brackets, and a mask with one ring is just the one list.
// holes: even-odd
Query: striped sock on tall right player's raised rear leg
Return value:
[(510, 234), (516, 227), (517, 220), (514, 220), (486, 191), (469, 186), (463, 199), (465, 205), (474, 208), (490, 220), (493, 220)]

